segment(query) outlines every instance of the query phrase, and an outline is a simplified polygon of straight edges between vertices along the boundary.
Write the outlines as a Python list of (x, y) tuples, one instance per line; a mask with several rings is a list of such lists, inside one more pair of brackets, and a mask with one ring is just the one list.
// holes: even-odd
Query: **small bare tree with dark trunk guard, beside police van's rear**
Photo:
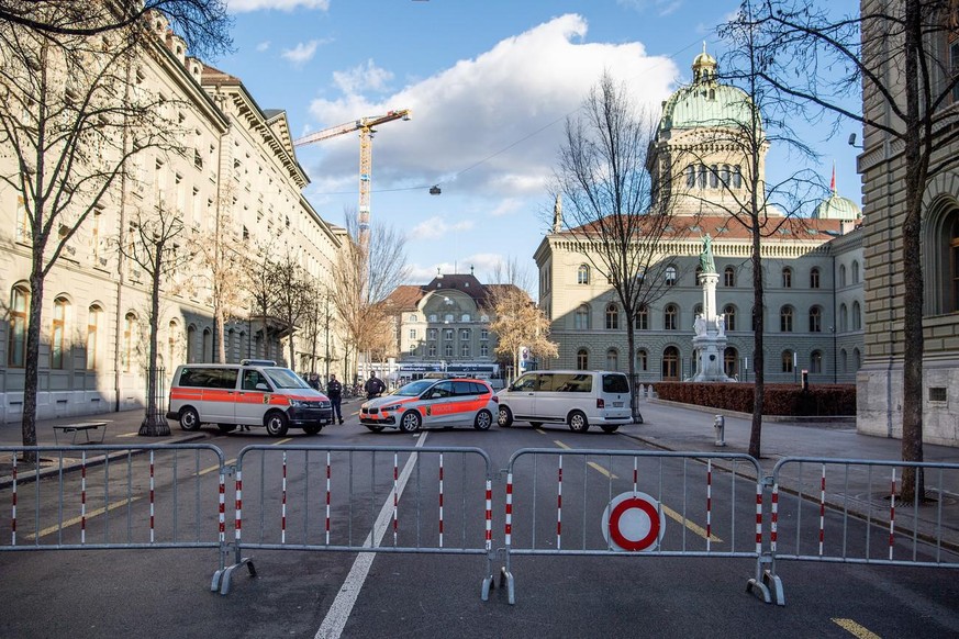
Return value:
[(193, 255), (183, 246), (182, 211), (157, 206), (155, 211), (137, 210), (130, 223), (126, 244), (120, 250), (149, 278), (149, 346), (146, 362), (146, 414), (140, 434), (150, 437), (170, 434), (166, 416), (157, 405), (157, 335), (159, 333), (160, 287), (164, 280), (192, 261)]

